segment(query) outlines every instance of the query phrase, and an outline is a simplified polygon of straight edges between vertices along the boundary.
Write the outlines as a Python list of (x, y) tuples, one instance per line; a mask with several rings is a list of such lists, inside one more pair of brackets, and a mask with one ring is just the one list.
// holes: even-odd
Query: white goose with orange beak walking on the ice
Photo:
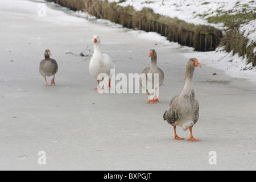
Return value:
[[(97, 78), (98, 86), (94, 90), (102, 89), (99, 86), (100, 81), (102, 80), (102, 77), (104, 75), (110, 75), (110, 69), (115, 69), (115, 65), (112, 62), (112, 59), (109, 55), (106, 53), (101, 53), (101, 39), (100, 36), (94, 35), (93, 36), (93, 56), (90, 59), (89, 63), (89, 71), (90, 75), (92, 75), (94, 78)], [(105, 74), (102, 74), (105, 73)], [(110, 87), (110, 80), (111, 75), (109, 78), (109, 87)]]

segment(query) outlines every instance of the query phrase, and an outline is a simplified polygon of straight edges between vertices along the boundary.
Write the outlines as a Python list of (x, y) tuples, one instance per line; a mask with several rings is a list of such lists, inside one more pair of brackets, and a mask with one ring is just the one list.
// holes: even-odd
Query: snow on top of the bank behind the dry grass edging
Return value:
[[(108, 2), (119, 2), (119, 0), (108, 0)], [(222, 23), (208, 23), (207, 18), (209, 16), (221, 15), (222, 11), (232, 11), (231, 14), (246, 13), (249, 11), (255, 11), (256, 3), (251, 0), (245, 1), (225, 1), (225, 0), (175, 0), (175, 1), (163, 1), (163, 0), (126, 0), (118, 3), (119, 6), (132, 6), (135, 10), (141, 11), (143, 7), (151, 8), (154, 13), (170, 16), (171, 18), (179, 18), (188, 23), (204, 24), (225, 30), (226, 27)], [(245, 11), (246, 7), (246, 11)], [(221, 13), (217, 13), (221, 12)], [(255, 20), (247, 22), (241, 26), (241, 30), (250, 30), (248, 32), (253, 34), (256, 30)], [(251, 42), (256, 42), (256, 36), (249, 35), (248, 38)]]

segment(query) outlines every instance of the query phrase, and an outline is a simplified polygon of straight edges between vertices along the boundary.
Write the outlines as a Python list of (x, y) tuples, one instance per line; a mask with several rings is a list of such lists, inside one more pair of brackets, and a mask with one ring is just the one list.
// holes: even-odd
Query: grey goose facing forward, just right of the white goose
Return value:
[[(147, 67), (142, 71), (140, 85), (143, 89), (147, 90), (147, 95), (148, 95), (147, 104), (155, 104), (156, 102), (159, 102), (158, 97), (156, 96), (156, 91), (158, 87), (163, 84), (164, 72), (162, 71), (162, 69), (158, 68), (156, 65), (157, 55), (154, 49), (150, 50), (149, 57), (151, 57), (151, 67)], [(152, 76), (148, 76), (148, 73), (151, 73)], [(158, 74), (159, 80), (157, 85), (155, 85), (154, 74)], [(155, 94), (152, 100), (150, 100), (150, 93), (148, 93), (148, 89), (155, 89)]]

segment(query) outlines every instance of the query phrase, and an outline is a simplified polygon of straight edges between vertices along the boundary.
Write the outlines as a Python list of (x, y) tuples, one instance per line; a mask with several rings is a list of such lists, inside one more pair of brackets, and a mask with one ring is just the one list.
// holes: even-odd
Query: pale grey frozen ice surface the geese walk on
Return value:
[[(46, 3), (46, 17), (40, 17), (39, 3), (0, 1), (1, 170), (256, 169), (255, 85), (216, 69), (217, 63), (208, 66), (207, 56), (217, 62), (221, 55), (78, 18), (53, 3)], [(94, 34), (116, 73), (141, 73), (150, 65), (149, 50), (156, 50), (166, 75), (158, 104), (146, 104), (147, 94), (93, 90), (97, 81), (88, 67)], [(45, 49), (59, 64), (56, 86), (45, 87), (39, 73)], [(200, 104), (193, 135), (201, 142), (174, 140), (162, 118), (183, 89), (191, 56), (203, 65), (193, 77)], [(180, 127), (177, 134), (189, 138)], [(46, 152), (46, 165), (39, 165), (39, 151)], [(209, 164), (210, 151), (216, 151), (216, 165)]]

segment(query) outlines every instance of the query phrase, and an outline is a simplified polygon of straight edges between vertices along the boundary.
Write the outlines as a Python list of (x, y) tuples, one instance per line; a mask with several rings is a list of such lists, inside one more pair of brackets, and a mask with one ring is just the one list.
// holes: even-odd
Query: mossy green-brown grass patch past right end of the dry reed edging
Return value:
[(249, 5), (240, 5), (240, 2), (237, 2), (236, 6), (243, 8), (238, 12), (236, 9), (229, 11), (217, 10), (218, 16), (209, 16), (207, 20), (209, 23), (223, 23), (225, 27), (228, 27), (220, 43), (220, 46), (225, 46), (225, 51), (233, 51), (234, 54), (238, 53), (243, 58), (246, 56), (248, 63), (253, 63), (253, 66), (256, 66), (256, 52), (253, 51), (256, 47), (256, 42), (250, 42), (244, 36), (244, 32), (240, 30), (242, 24), (256, 19), (256, 10), (248, 10), (247, 7)]

